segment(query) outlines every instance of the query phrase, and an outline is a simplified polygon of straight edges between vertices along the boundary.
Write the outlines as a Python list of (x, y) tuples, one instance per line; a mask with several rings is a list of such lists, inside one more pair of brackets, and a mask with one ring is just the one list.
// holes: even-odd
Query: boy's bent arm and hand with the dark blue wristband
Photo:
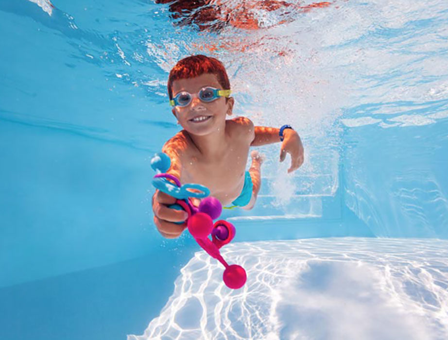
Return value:
[[(256, 126), (255, 138), (251, 143), (251, 146), (261, 146), (266, 144), (272, 144), (280, 142), (280, 136), (278, 136), (280, 129)], [(283, 130), (283, 142), (280, 148), (280, 162), (283, 162), (286, 157), (286, 153), (291, 154), (291, 167), (288, 172), (299, 169), (303, 164), (303, 145), (300, 140), (300, 136), (292, 129)]]

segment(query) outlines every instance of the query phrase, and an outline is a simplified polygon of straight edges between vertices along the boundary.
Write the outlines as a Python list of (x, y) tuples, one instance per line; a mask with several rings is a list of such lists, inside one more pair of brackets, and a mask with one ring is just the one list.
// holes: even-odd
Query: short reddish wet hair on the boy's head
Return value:
[(205, 73), (216, 75), (218, 83), (222, 86), (223, 90), (230, 89), (229, 78), (222, 62), (203, 54), (191, 55), (190, 57), (179, 60), (170, 71), (168, 77), (168, 95), (170, 96), (170, 100), (172, 99), (172, 82), (179, 79), (199, 77)]

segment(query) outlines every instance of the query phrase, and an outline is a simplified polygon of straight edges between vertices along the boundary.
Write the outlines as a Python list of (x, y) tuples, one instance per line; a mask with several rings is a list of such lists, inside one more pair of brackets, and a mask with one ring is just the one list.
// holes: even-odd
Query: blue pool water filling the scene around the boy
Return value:
[[(0, 339), (448, 338), (446, 1), (250, 9), (258, 30), (52, 2), (0, 1)], [(291, 175), (261, 148), (256, 207), (224, 213), (236, 291), (152, 222), (168, 72), (197, 53), (224, 62), (235, 115), (305, 147)]]

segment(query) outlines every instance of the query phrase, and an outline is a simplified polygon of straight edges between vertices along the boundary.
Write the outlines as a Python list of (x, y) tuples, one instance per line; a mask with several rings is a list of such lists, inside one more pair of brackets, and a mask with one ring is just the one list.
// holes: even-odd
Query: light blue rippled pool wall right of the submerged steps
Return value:
[(448, 119), (347, 128), (344, 202), (378, 237), (448, 238)]

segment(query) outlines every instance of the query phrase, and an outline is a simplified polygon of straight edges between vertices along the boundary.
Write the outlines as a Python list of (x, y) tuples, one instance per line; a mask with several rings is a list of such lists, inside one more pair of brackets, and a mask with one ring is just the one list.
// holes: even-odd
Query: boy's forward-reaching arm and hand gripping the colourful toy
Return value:
[[(162, 148), (171, 159), (171, 167), (167, 173), (180, 179), (182, 164), (180, 153), (186, 147), (182, 136), (172, 137)], [(168, 206), (174, 204), (176, 199), (162, 191), (155, 190), (153, 195), (154, 223), (159, 233), (165, 238), (177, 238), (187, 227), (186, 224), (176, 224), (174, 222), (185, 221), (188, 217), (183, 210), (170, 209)]]

